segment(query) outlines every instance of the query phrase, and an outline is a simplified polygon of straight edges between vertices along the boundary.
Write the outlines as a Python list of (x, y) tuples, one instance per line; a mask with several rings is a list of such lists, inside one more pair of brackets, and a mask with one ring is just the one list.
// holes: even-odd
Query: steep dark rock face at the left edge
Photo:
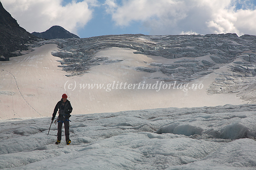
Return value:
[(8, 61), (10, 57), (22, 55), (20, 51), (29, 49), (27, 44), (39, 41), (37, 37), (20, 27), (1, 2), (0, 30), (0, 61)]

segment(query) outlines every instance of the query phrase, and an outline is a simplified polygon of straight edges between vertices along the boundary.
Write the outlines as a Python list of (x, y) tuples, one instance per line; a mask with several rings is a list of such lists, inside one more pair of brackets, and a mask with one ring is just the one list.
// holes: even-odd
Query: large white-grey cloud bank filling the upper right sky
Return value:
[(117, 26), (141, 22), (150, 34), (256, 35), (250, 0), (106, 0), (105, 5)]

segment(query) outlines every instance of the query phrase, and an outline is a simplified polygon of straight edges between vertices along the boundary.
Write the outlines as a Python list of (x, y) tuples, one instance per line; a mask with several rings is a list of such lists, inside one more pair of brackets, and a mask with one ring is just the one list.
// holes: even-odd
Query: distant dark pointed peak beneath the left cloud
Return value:
[(44, 32), (32, 32), (31, 34), (46, 40), (56, 38), (79, 38), (77, 35), (70, 33), (69, 31), (58, 25), (52, 26)]

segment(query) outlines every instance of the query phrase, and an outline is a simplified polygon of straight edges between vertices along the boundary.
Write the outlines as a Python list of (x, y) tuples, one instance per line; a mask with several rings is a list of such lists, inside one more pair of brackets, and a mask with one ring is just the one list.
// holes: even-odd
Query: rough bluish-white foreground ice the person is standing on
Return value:
[(0, 169), (255, 169), (255, 111), (244, 104), (72, 115), (69, 146), (54, 144), (55, 124), (47, 136), (50, 117), (5, 120)]

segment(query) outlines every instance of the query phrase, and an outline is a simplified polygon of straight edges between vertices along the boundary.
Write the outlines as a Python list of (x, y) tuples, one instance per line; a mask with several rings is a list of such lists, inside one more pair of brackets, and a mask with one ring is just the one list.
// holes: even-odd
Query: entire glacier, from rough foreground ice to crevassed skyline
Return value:
[[(1, 169), (255, 169), (255, 36), (31, 47), (0, 63)], [(55, 124), (47, 136), (63, 93), (73, 106), (69, 146), (54, 144)]]

